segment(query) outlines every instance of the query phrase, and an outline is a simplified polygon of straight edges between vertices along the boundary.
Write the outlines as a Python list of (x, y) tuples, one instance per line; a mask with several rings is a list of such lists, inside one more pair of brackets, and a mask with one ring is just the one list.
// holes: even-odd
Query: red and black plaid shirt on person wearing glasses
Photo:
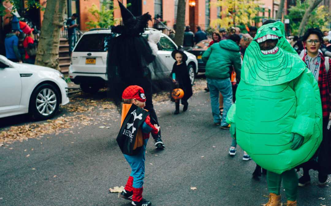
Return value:
[[(307, 55), (307, 53), (305, 54), (304, 58), (302, 59), (304, 62), (305, 62), (306, 55)], [(325, 66), (324, 66), (325, 58), (322, 53), (319, 53), (319, 55), (321, 55), (321, 61), (320, 61), (319, 74), (318, 74), (318, 87), (319, 87), (319, 92), (321, 95), (322, 114), (323, 114), (323, 118), (324, 118), (324, 117), (329, 117), (330, 110), (331, 110), (331, 108), (330, 108), (330, 106), (331, 106), (331, 102), (330, 102), (331, 72), (329, 69), (328, 74), (326, 74)], [(330, 58), (329, 58), (329, 65), (331, 67)]]

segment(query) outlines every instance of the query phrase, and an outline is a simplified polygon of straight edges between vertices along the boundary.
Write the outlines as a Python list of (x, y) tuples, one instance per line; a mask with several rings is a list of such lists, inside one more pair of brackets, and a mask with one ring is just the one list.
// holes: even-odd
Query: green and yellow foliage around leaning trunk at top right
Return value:
[[(290, 19), (289, 26), (293, 35), (298, 35), (300, 23), (310, 3), (311, 1), (301, 2), (300, 0), (297, 0), (296, 6), (291, 6), (291, 8), (288, 9), (289, 14), (286, 15), (285, 18)], [(309, 17), (306, 29), (310, 27), (319, 27), (322, 29), (329, 21), (330, 15), (328, 14), (327, 9), (324, 6), (316, 7)]]

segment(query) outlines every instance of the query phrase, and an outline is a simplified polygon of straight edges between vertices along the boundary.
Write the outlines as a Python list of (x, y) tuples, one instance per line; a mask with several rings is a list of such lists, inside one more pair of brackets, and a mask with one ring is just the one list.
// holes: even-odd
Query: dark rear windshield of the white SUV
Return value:
[(108, 50), (110, 39), (114, 34), (86, 34), (79, 40), (75, 52), (104, 52)]

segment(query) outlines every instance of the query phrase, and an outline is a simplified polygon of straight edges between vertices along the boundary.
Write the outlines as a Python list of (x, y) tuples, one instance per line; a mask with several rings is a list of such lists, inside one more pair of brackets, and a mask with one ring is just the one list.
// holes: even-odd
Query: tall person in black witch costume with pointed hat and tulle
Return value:
[[(111, 39), (108, 48), (109, 95), (114, 98), (117, 105), (120, 105), (120, 91), (123, 91), (129, 85), (141, 86), (146, 95), (145, 109), (150, 112), (151, 117), (155, 120), (153, 124), (160, 125), (152, 101), (152, 86), (154, 85), (152, 85), (151, 71), (147, 67), (155, 60), (155, 55), (152, 54), (152, 49), (147, 40), (141, 35), (147, 27), (148, 21), (152, 20), (151, 15), (146, 13), (135, 17), (119, 1), (118, 4), (124, 25), (111, 28), (113, 33), (120, 35)], [(152, 134), (152, 136), (156, 149), (164, 149), (161, 131), (158, 134)]]

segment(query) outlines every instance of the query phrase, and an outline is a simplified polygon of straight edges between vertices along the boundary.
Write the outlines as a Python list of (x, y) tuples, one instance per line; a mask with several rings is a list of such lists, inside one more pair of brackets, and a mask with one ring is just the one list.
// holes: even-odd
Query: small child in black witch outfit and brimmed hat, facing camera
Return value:
[[(184, 91), (184, 97), (181, 99), (184, 105), (183, 111), (187, 110), (187, 100), (192, 96), (192, 84), (190, 75), (187, 70), (186, 60), (187, 55), (181, 50), (174, 50), (171, 53), (172, 58), (176, 60), (173, 64), (170, 76), (175, 83), (176, 88), (180, 88)], [(179, 114), (179, 99), (175, 100), (176, 110), (174, 114)]]

